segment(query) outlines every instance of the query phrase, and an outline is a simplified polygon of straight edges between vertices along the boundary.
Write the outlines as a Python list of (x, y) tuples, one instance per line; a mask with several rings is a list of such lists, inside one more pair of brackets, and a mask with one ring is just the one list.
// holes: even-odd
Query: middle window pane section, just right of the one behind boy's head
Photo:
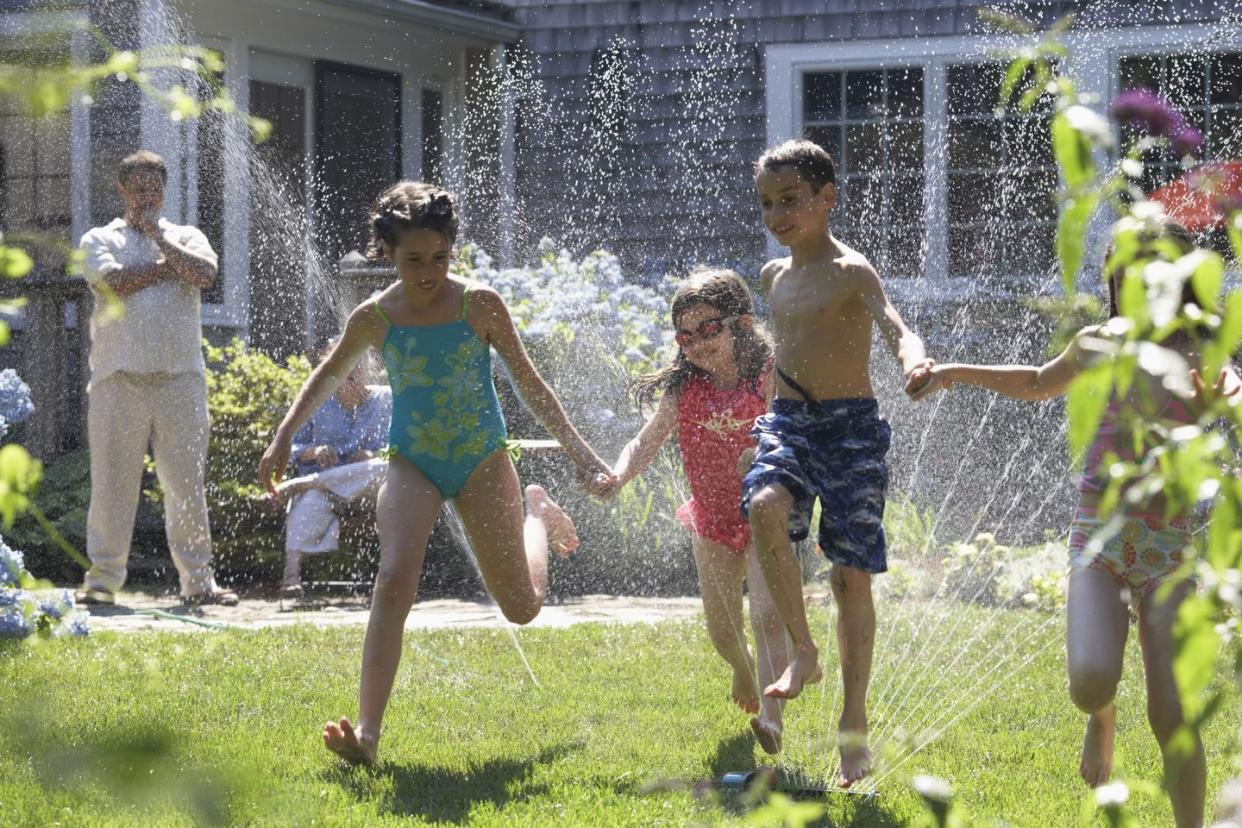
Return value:
[[(949, 66), (949, 276), (1047, 273), (1056, 253), (1057, 169), (1049, 110), (996, 112), (1006, 67)], [(1025, 88), (1025, 87), (1020, 87)]]

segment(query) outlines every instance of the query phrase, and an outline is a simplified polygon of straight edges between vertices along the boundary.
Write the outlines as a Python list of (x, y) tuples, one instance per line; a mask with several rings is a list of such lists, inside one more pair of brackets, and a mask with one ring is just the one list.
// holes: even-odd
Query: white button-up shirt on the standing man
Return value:
[[(211, 243), (197, 227), (160, 218), (164, 237), (216, 262)], [(147, 236), (117, 218), (82, 236), (86, 278), (96, 289), (91, 314), (91, 381), (117, 371), (129, 374), (201, 374), (202, 324), (200, 289), (179, 279), (163, 279), (122, 299), (124, 314), (109, 318), (99, 282), (112, 271), (152, 264), (159, 248)]]

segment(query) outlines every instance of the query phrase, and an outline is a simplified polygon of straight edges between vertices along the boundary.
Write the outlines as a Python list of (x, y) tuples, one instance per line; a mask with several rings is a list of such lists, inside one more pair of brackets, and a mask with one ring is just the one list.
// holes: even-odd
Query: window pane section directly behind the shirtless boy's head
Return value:
[(923, 70), (809, 72), (807, 138), (832, 156), (833, 231), (886, 277), (923, 272)]

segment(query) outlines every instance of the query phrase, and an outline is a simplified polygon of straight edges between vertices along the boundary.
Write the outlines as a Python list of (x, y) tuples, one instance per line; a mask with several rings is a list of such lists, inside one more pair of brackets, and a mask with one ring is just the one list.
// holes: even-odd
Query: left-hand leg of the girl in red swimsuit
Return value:
[(733, 668), (733, 703), (746, 713), (759, 713), (755, 665), (746, 647), (745, 621), (741, 614), (741, 582), (746, 574), (746, 561), (728, 546), (697, 535), (693, 547), (707, 634), (715, 652)]

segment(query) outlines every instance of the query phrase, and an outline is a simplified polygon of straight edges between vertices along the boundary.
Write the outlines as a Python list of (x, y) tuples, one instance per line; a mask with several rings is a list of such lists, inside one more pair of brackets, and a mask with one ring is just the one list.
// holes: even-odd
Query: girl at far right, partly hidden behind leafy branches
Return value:
[[(1185, 230), (1167, 222), (1160, 236), (1144, 237), (1148, 252), (1158, 251), (1158, 238), (1176, 241), (1181, 252), (1194, 247)], [(1028, 365), (936, 365), (932, 379), (943, 386), (966, 382), (1018, 400), (1047, 400), (1066, 392), (1071, 381), (1092, 364), (1092, 340), (1124, 339), (1126, 320), (1120, 318), (1117, 294), (1122, 273), (1109, 279), (1112, 319), (1104, 325), (1083, 329), (1063, 354), (1036, 367)], [(1131, 277), (1135, 278), (1135, 277)], [(1182, 304), (1199, 302), (1186, 281)], [(1160, 343), (1181, 354), (1190, 365), (1200, 362), (1186, 333)], [(1165, 785), (1179, 827), (1201, 826), (1206, 786), (1203, 746), (1195, 735), (1194, 752), (1180, 765), (1169, 744), (1184, 724), (1177, 685), (1172, 674), (1172, 624), (1181, 601), (1194, 591), (1190, 580), (1181, 580), (1171, 591), (1158, 590), (1182, 561), (1190, 545), (1185, 515), (1166, 515), (1167, 504), (1160, 493), (1145, 499), (1123, 497), (1119, 513), (1108, 519), (1098, 514), (1100, 495), (1108, 483), (1110, 457), (1135, 459), (1133, 438), (1126, 423), (1141, 417), (1166, 428), (1199, 421), (1199, 397), (1179, 397), (1166, 387), (1164, 377), (1136, 374), (1128, 394), (1113, 398), (1087, 452), (1078, 483), (1078, 510), (1069, 533), (1069, 586), (1067, 613), (1067, 667), (1069, 696), (1088, 714), (1079, 773), (1089, 786), (1108, 781), (1113, 768), (1113, 741), (1117, 711), (1113, 698), (1122, 679), (1129, 608), (1138, 612), (1139, 644), (1146, 674), (1148, 720), (1165, 756)], [(1199, 375), (1190, 377), (1200, 395), (1206, 389)], [(932, 382), (928, 387), (938, 387)], [(1190, 385), (1187, 381), (1186, 385)], [(1240, 382), (1231, 370), (1221, 371), (1211, 394), (1237, 395)], [(1150, 447), (1150, 446), (1149, 446)], [(1134, 493), (1131, 493), (1134, 494)]]

